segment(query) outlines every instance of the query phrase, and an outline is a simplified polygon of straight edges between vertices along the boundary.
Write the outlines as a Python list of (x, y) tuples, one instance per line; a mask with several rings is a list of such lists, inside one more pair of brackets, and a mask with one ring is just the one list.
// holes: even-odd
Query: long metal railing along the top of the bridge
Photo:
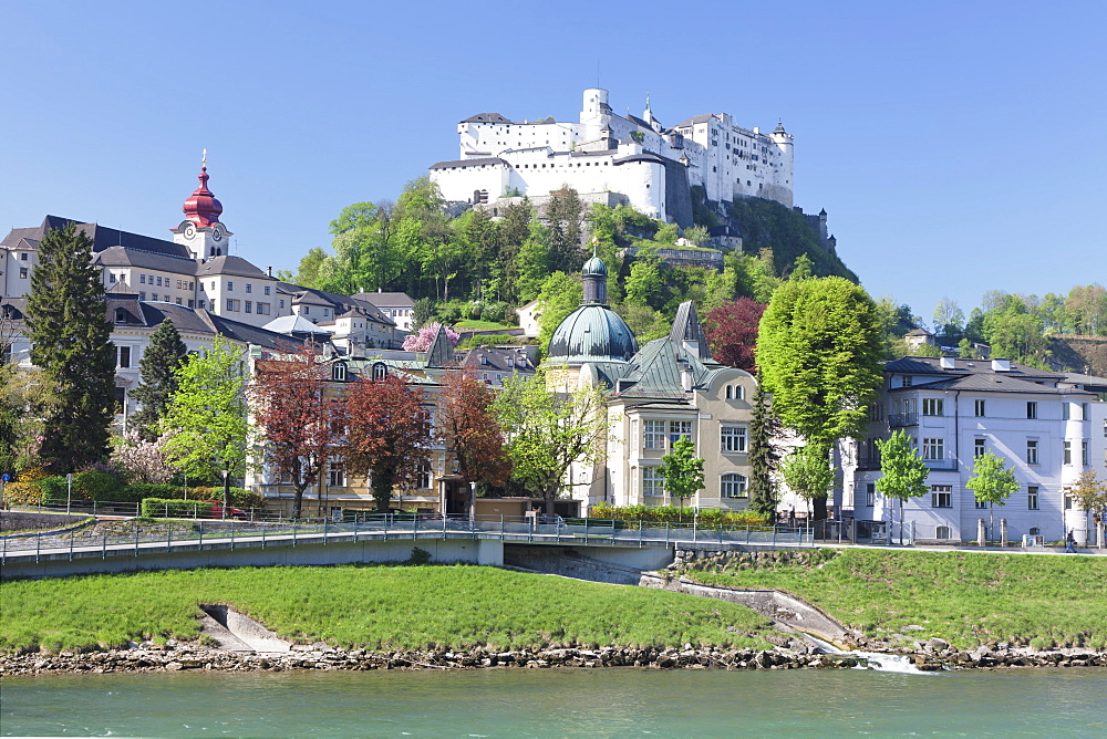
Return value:
[(0, 559), (50, 559), (144, 554), (241, 547), (328, 544), (394, 539), (486, 539), (536, 544), (583, 547), (670, 547), (814, 544), (801, 527), (702, 527), (697, 523), (653, 523), (572, 519), (540, 522), (534, 518), (449, 518), (411, 514), (358, 517), (332, 522), (303, 521), (115, 521), (66, 532), (4, 537)]

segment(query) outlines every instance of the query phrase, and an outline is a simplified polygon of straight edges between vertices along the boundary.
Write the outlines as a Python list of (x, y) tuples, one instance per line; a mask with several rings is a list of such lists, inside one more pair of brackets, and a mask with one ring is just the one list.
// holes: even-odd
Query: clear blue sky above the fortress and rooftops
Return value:
[(796, 204), (875, 296), (1107, 281), (1103, 2), (0, 2), (0, 229), (169, 238), (207, 148), (236, 253), (293, 269), (495, 111), (584, 87), (666, 124), (783, 118)]

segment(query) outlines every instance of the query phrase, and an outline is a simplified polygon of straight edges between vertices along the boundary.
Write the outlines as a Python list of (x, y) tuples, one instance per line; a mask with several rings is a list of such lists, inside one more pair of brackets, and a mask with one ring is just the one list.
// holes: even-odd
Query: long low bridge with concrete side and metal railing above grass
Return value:
[(201, 566), (319, 565), (402, 562), (414, 548), (431, 562), (504, 564), (504, 548), (587, 548), (597, 560), (653, 570), (676, 549), (810, 547), (808, 529), (701, 528), (649, 522), (575, 520), (535, 523), (498, 518), (380, 517), (341, 523), (261, 521), (116, 521), (112, 530), (15, 534), (0, 543), (0, 579)]

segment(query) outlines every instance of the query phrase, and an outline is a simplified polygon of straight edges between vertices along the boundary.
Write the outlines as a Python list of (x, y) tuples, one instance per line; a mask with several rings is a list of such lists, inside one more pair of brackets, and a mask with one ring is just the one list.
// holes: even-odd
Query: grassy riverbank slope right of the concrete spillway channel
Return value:
[(686, 575), (794, 593), (870, 637), (1107, 649), (1107, 558), (842, 550), (821, 566), (741, 566)]

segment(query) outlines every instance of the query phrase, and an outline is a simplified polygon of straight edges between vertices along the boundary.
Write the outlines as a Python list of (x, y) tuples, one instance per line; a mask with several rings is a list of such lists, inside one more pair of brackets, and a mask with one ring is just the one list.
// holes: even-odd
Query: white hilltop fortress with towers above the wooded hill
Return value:
[(569, 185), (586, 200), (625, 197), (652, 218), (692, 226), (692, 187), (708, 200), (758, 197), (792, 207), (793, 137), (736, 126), (727, 113), (666, 127), (649, 97), (642, 117), (611, 111), (608, 91), (586, 90), (580, 123), (509, 121), (480, 113), (457, 124), (459, 158), (431, 167), (447, 200), (472, 205)]

